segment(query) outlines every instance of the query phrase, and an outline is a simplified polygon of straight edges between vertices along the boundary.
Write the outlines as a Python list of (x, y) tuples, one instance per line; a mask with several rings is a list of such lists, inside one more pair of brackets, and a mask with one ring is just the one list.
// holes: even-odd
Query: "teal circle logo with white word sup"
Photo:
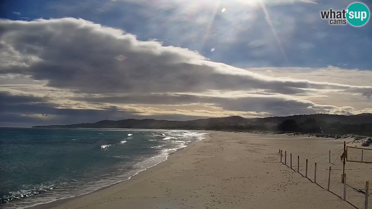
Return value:
[(352, 3), (347, 7), (346, 19), (353, 26), (362, 26), (368, 22), (369, 9), (363, 3)]

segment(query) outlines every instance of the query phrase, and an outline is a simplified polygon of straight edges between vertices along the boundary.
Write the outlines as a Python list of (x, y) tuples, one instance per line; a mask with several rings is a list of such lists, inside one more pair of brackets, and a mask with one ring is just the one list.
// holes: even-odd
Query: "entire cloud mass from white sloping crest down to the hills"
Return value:
[[(370, 111), (368, 103), (356, 108), (350, 100), (371, 97), (370, 72), (363, 76), (332, 66), (243, 69), (75, 18), (0, 20), (0, 26), (0, 91), (6, 101), (0, 104), (9, 123), (25, 117), (75, 123)], [(126, 59), (115, 59), (118, 55)], [(350, 80), (350, 75), (360, 80)], [(338, 101), (346, 103), (331, 104), (340, 95)]]

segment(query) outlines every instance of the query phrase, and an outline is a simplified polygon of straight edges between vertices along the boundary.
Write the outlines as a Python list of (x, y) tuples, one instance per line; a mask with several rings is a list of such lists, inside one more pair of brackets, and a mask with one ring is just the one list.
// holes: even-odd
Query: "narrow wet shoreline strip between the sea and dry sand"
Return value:
[[(206, 132), (205, 136), (208, 137), (209, 134), (211, 134), (211, 133)], [(206, 137), (205, 137), (205, 138), (206, 138)], [(121, 184), (121, 183), (123, 183), (123, 182), (125, 182), (125, 181), (131, 180), (133, 177), (137, 176), (138, 174), (140, 174), (140, 173), (142, 173), (142, 172), (144, 172), (144, 171), (147, 171), (147, 170), (149, 170), (149, 169), (151, 169), (151, 168), (153, 168), (153, 167), (155, 167), (155, 166), (157, 166), (157, 165), (159, 165), (159, 164), (161, 164), (161, 163), (163, 163), (163, 162), (166, 162), (166, 161), (169, 159), (170, 156), (176, 154), (177, 152), (181, 152), (181, 151), (183, 151), (184, 149), (188, 148), (190, 145), (193, 145), (193, 144), (195, 144), (195, 143), (197, 143), (197, 142), (200, 142), (200, 141), (202, 141), (202, 140), (204, 140), (204, 139), (201, 139), (201, 140), (198, 140), (198, 141), (195, 141), (195, 142), (189, 143), (189, 144), (185, 144), (186, 147), (173, 148), (175, 151), (168, 153), (168, 155), (167, 155), (167, 157), (166, 157), (165, 160), (160, 161), (159, 163), (156, 163), (156, 164), (154, 164), (154, 165), (151, 165), (150, 167), (144, 168), (144, 170), (138, 171), (138, 172), (135, 173), (134, 175), (129, 176), (127, 179), (124, 179), (124, 180), (122, 180), (122, 181), (119, 181), (119, 182), (117, 182), (117, 183), (115, 183), (115, 184), (111, 184), (111, 185), (108, 185), (108, 186), (102, 187), (102, 188), (100, 188), (100, 189), (94, 190), (93, 192), (83, 193), (83, 194), (79, 194), (79, 195), (77, 195), (77, 196), (64, 197), (64, 198), (60, 198), (60, 199), (56, 199), (56, 200), (52, 200), (52, 201), (50, 201), (50, 202), (38, 203), (38, 204), (36, 204), (36, 205), (27, 206), (27, 207), (25, 207), (25, 208), (19, 208), (19, 209), (48, 209), (48, 208), (53, 208), (53, 207), (55, 207), (55, 206), (61, 205), (61, 204), (65, 203), (65, 202), (68, 202), (68, 201), (70, 201), (70, 200), (75, 200), (75, 199), (78, 199), (78, 198), (80, 198), (80, 197), (83, 197), (83, 196), (86, 196), (86, 195), (89, 195), (89, 194), (93, 194), (93, 193), (99, 192), (99, 191), (104, 190), (104, 189), (108, 189), (108, 188), (110, 188), (110, 187), (112, 187), (112, 186), (115, 186), (115, 185), (117, 185), (117, 184)]]

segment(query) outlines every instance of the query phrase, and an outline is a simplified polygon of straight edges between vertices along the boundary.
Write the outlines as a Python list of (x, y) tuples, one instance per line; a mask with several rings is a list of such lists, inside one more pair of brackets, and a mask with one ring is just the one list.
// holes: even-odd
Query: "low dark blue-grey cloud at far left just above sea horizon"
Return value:
[(112, 106), (102, 110), (57, 108), (44, 98), (11, 95), (0, 92), (0, 126), (23, 123), (32, 125), (71, 124), (97, 122), (104, 119), (123, 119), (138, 117), (136, 112), (126, 112)]

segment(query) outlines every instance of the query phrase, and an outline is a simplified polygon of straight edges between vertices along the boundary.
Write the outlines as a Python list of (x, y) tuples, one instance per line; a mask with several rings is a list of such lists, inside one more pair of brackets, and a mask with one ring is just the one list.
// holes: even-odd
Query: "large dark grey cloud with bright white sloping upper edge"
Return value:
[[(0, 73), (31, 75), (48, 86), (84, 93), (167, 93), (263, 89), (305, 94), (307, 89), (358, 87), (280, 80), (206, 61), (189, 49), (138, 41), (119, 29), (74, 19), (0, 20)], [(127, 57), (123, 61), (118, 55)], [(236, 70), (236, 69), (235, 69)]]

